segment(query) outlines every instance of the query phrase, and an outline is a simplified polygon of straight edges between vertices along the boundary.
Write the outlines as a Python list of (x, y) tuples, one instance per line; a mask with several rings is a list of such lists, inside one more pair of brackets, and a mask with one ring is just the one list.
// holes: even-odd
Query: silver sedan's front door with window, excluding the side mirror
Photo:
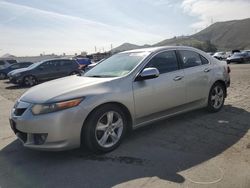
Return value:
[(180, 106), (186, 100), (184, 72), (179, 68), (175, 51), (158, 53), (147, 67), (157, 68), (160, 75), (133, 83), (137, 123), (147, 121), (151, 114), (161, 116), (166, 110)]

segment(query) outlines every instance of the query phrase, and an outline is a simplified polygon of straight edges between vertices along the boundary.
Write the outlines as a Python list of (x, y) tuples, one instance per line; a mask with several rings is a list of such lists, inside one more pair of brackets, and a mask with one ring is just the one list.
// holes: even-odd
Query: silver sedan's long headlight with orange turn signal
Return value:
[(62, 102), (50, 103), (50, 104), (35, 104), (32, 107), (32, 113), (34, 115), (39, 115), (39, 114), (56, 112), (56, 111), (64, 110), (67, 108), (72, 108), (72, 107), (78, 106), (82, 102), (83, 99), (84, 98), (72, 99), (68, 101), (62, 101)]

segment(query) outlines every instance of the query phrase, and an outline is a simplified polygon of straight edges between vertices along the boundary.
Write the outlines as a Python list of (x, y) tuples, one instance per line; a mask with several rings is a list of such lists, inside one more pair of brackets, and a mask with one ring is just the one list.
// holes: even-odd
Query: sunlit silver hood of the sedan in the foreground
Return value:
[(20, 100), (29, 103), (51, 103), (110, 91), (110, 81), (117, 78), (68, 76), (37, 85)]

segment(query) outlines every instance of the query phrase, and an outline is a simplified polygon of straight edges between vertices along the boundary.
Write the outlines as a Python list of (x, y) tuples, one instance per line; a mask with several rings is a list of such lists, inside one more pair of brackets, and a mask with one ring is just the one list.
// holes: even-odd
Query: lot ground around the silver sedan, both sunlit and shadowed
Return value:
[(0, 133), (0, 187), (249, 188), (250, 64), (231, 69), (221, 112), (198, 110), (154, 123), (102, 156), (21, 147), (5, 114), (27, 88), (0, 81), (0, 131), (8, 129)]

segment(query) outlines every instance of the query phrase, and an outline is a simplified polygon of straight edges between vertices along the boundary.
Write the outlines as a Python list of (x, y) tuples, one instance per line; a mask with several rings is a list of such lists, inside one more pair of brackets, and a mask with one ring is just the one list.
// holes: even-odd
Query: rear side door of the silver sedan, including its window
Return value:
[(197, 52), (179, 50), (179, 56), (184, 70), (187, 103), (199, 102), (208, 97), (212, 65)]

